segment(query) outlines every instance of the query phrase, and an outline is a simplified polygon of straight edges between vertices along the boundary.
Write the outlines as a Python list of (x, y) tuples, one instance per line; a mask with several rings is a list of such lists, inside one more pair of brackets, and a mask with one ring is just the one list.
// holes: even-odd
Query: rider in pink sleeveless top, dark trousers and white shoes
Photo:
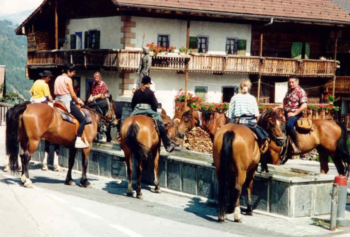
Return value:
[(62, 70), (62, 74), (57, 76), (54, 81), (54, 94), (56, 95), (55, 100), (57, 102), (62, 102), (67, 108), (67, 111), (70, 112), (79, 122), (74, 147), (86, 148), (88, 147), (88, 144), (81, 139), (81, 135), (86, 124), (86, 119), (75, 106), (75, 104), (84, 105), (84, 102), (82, 102), (82, 100), (78, 98), (74, 92), (73, 83), (70, 78), (74, 75), (74, 66), (67, 64)]

